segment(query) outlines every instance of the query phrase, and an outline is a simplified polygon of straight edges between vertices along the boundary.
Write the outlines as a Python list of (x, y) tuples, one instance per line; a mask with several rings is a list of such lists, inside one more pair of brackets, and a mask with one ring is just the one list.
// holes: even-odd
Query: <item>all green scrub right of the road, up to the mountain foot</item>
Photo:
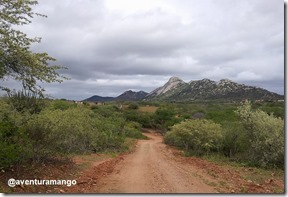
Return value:
[(127, 109), (124, 115), (162, 133), (165, 143), (187, 155), (284, 167), (284, 102), (140, 104), (151, 106), (157, 106), (155, 113)]

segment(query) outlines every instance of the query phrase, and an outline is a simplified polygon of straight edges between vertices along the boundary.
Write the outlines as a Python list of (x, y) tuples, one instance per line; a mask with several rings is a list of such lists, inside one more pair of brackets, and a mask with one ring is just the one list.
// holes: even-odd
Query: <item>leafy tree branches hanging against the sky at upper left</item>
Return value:
[[(58, 69), (64, 67), (49, 65), (55, 61), (47, 53), (35, 53), (30, 50), (33, 43), (40, 43), (41, 38), (29, 38), (16, 27), (31, 23), (36, 16), (32, 6), (36, 0), (0, 0), (0, 79), (12, 78), (22, 83), (25, 90), (42, 94), (44, 89), (38, 82), (62, 82)], [(0, 85), (2, 90), (10, 91)]]

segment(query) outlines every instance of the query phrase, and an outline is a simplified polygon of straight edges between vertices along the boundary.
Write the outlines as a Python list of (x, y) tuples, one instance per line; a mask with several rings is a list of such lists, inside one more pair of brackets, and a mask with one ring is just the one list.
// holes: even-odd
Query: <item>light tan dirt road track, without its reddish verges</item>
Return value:
[(150, 139), (139, 140), (135, 152), (99, 180), (97, 193), (217, 193), (201, 172), (175, 159), (161, 136), (145, 135)]

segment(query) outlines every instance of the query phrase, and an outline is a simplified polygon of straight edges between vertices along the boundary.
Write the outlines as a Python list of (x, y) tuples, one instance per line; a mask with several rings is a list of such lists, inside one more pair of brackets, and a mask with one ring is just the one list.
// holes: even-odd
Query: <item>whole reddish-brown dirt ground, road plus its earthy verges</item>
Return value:
[[(145, 134), (133, 153), (87, 154), (71, 161), (20, 166), (0, 171), (0, 190), (6, 193), (284, 193), (284, 171), (216, 164), (202, 158), (184, 157), (166, 146), (162, 137)], [(62, 186), (7, 185), (8, 179), (71, 179)]]

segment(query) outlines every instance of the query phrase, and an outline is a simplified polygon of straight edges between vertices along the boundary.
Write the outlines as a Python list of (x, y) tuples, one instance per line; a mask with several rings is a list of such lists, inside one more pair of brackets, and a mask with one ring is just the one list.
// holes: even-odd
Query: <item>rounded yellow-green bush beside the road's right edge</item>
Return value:
[(172, 127), (164, 137), (169, 145), (184, 148), (186, 152), (203, 155), (217, 150), (221, 140), (221, 126), (210, 120), (187, 120)]

